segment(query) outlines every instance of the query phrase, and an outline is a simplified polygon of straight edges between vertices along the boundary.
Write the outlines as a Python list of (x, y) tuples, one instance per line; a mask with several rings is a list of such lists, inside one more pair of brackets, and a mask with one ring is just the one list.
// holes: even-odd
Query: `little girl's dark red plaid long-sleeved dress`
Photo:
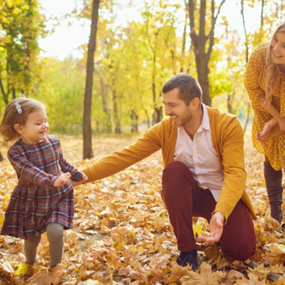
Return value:
[(8, 151), (8, 159), (18, 175), (5, 212), (3, 235), (31, 239), (45, 232), (46, 225), (58, 223), (73, 228), (74, 191), (71, 183), (53, 187), (59, 175), (69, 172), (73, 181), (83, 174), (64, 159), (61, 142), (46, 135), (43, 142), (18, 141)]

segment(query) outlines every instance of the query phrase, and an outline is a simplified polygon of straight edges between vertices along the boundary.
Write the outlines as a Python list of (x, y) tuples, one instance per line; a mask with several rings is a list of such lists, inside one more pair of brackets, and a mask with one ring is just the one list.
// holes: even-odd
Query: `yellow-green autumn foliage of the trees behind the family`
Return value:
[[(130, 131), (131, 128), (135, 131), (140, 123), (151, 126), (156, 121), (155, 112), (163, 106), (161, 88), (167, 79), (181, 71), (197, 78), (189, 20), (181, 17), (186, 13), (180, 5), (183, 1), (176, 4), (170, 0), (144, 0), (142, 20), (128, 22), (125, 27), (118, 26), (117, 19), (122, 17), (118, 2), (104, 0), (100, 4), (94, 60), (94, 132)], [(245, 9), (256, 9), (253, 5), (257, 3), (261, 0), (244, 0)], [(69, 16), (90, 19), (92, 0), (77, 0), (77, 4)], [(249, 54), (256, 45), (268, 40), (272, 27), (282, 15), (280, 1), (265, 4), (264, 26), (247, 34)], [(115, 5), (117, 8), (113, 9)], [(195, 25), (199, 27), (199, 2), (195, 7)], [(208, 1), (207, 34), (211, 27), (210, 7)], [(214, 106), (239, 115), (248, 110), (248, 95), (243, 85), (245, 43), (229, 27), (225, 16), (221, 20), (219, 25), (224, 34), (215, 39), (208, 63), (210, 96)], [(242, 26), (242, 21), (237, 24)], [(177, 29), (183, 25), (186, 25), (185, 41)], [(45, 102), (52, 132), (79, 134), (83, 122), (87, 46), (81, 46), (82, 60), (41, 59), (37, 42), (45, 34), (45, 16), (38, 0), (31, 1), (30, 5), (28, 0), (0, 3), (0, 78), (4, 99), (0, 100), (0, 117), (4, 102), (12, 99), (14, 90), (17, 95), (23, 92)]]

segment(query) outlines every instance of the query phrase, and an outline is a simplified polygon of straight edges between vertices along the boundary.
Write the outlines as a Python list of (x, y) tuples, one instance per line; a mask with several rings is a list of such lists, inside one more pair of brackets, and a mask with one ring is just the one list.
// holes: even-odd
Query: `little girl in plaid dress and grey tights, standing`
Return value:
[(10, 102), (0, 125), (4, 142), (15, 142), (8, 159), (18, 175), (4, 216), (2, 235), (24, 240), (26, 274), (33, 274), (41, 234), (49, 240), (50, 269), (61, 263), (63, 230), (72, 229), (74, 191), (69, 178), (84, 181), (87, 177), (64, 159), (61, 142), (47, 134), (49, 125), (45, 105), (19, 98)]

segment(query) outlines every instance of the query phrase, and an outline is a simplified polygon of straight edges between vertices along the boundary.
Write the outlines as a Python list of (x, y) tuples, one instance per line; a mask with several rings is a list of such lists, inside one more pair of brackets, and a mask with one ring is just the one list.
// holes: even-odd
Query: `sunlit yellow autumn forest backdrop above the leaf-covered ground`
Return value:
[(198, 78), (203, 102), (239, 116), (246, 131), (248, 54), (282, 20), (283, 0), (75, 0), (61, 13), (54, 8), (56, 14), (43, 8), (44, 0), (4, 0), (0, 119), (5, 105), (25, 94), (45, 103), (52, 133), (82, 134), (88, 39), (71, 52), (61, 40), (53, 42), (61, 56), (42, 46), (67, 22), (69, 31), (81, 25), (90, 35), (95, 2), (92, 134), (137, 133), (158, 123), (162, 85), (178, 72)]

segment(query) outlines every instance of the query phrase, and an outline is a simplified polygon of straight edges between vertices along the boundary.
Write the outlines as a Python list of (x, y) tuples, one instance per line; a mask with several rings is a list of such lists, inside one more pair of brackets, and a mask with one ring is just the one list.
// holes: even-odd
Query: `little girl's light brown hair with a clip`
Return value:
[[(20, 104), (22, 113), (19, 113), (16, 108), (16, 102)], [(6, 106), (4, 117), (0, 125), (0, 133), (4, 137), (5, 145), (7, 145), (8, 142), (12, 142), (20, 138), (20, 134), (14, 129), (14, 126), (16, 124), (24, 126), (27, 122), (28, 114), (38, 109), (45, 110), (45, 105), (41, 102), (25, 97), (14, 99)]]

